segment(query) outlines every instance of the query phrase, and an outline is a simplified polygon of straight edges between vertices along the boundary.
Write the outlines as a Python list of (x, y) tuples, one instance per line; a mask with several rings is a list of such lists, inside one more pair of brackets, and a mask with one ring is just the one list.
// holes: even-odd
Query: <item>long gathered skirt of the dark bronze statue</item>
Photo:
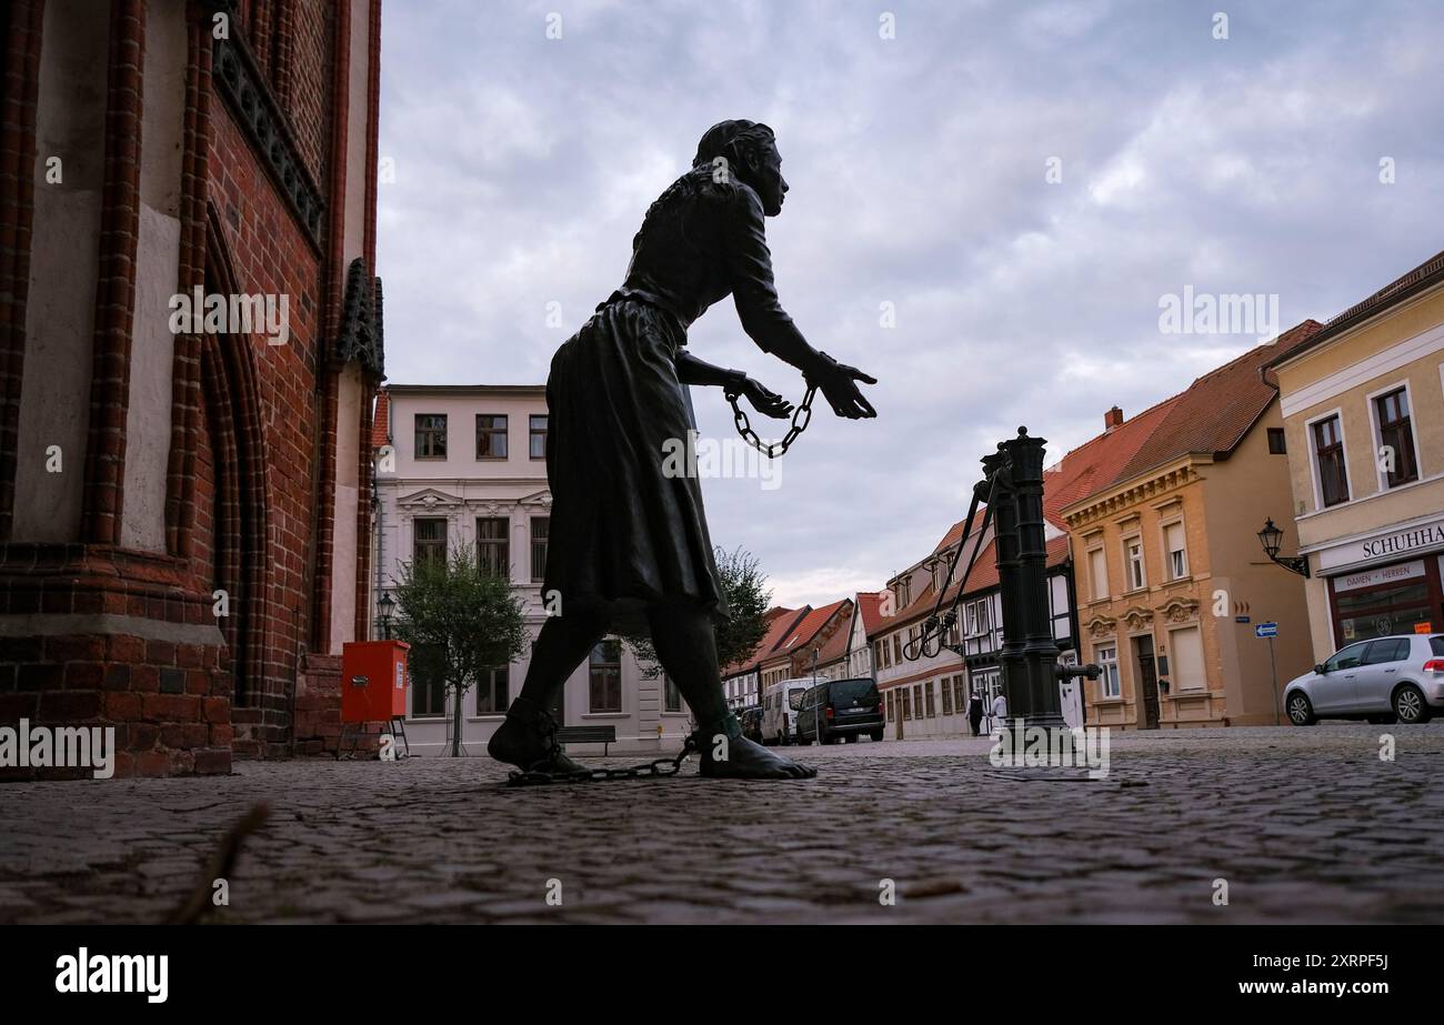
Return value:
[(543, 586), (560, 593), (562, 615), (567, 603), (602, 603), (637, 632), (657, 602), (728, 615), (700, 482), (679, 455), (693, 427), (674, 364), (684, 344), (670, 313), (619, 299), (552, 359)]

